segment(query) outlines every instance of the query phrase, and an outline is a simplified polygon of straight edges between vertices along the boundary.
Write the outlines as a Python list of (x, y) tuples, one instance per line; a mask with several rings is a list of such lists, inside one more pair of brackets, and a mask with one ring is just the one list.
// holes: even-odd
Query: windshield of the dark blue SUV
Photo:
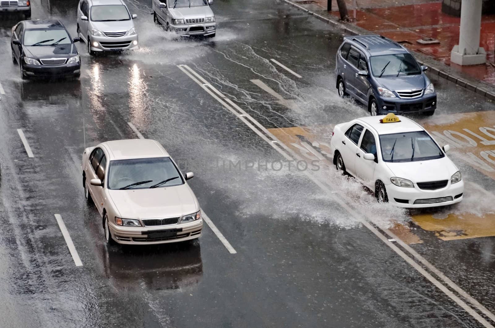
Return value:
[(411, 54), (371, 56), (370, 64), (375, 77), (421, 74), (416, 59)]

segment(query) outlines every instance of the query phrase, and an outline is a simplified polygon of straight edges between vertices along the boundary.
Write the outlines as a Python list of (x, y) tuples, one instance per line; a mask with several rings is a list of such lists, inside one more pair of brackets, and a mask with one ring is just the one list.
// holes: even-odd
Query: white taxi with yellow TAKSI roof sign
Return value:
[(462, 200), (464, 181), (443, 148), (416, 122), (393, 113), (337, 124), (331, 141), (338, 170), (359, 179), (378, 202), (403, 208)]

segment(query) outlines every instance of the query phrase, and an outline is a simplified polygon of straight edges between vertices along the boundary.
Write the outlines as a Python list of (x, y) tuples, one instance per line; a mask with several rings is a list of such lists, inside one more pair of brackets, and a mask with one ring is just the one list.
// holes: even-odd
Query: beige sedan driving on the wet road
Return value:
[(86, 148), (84, 194), (93, 200), (108, 244), (161, 244), (201, 235), (199, 203), (165, 149), (156, 141), (107, 141)]

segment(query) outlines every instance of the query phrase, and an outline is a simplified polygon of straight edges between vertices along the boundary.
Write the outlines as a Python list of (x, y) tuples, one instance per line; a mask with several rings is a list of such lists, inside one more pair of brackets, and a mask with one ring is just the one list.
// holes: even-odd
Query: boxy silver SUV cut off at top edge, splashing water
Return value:
[(153, 19), (166, 31), (212, 38), (216, 24), (211, 4), (213, 0), (153, 0)]

